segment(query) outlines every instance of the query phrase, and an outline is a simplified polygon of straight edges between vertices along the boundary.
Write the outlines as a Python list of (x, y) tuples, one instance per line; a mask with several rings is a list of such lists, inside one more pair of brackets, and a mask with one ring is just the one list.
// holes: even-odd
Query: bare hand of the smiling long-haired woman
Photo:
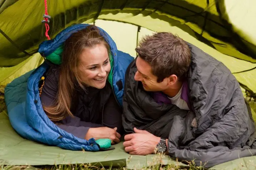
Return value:
[(112, 144), (120, 142), (121, 135), (117, 132), (117, 128), (108, 128), (108, 127), (98, 127), (90, 128), (85, 135), (85, 139), (89, 140), (90, 138), (97, 139), (111, 139)]

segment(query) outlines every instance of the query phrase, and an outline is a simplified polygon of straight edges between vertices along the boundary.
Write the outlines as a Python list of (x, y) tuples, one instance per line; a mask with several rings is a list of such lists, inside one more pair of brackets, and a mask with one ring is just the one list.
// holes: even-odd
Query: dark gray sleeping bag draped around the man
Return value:
[[(221, 62), (189, 44), (192, 58), (188, 70), (191, 111), (159, 103), (152, 92), (134, 80), (136, 60), (126, 72), (123, 126), (127, 133), (144, 129), (168, 139), (168, 153), (179, 161), (206, 168), (256, 155), (251, 110), (240, 85)], [(163, 98), (166, 97), (163, 95)]]

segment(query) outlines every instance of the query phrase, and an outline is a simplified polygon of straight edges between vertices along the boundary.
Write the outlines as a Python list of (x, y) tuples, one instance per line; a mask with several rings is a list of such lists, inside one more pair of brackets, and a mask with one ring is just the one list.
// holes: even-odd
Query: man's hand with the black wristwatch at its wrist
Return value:
[(137, 128), (134, 128), (134, 132), (124, 136), (124, 150), (131, 155), (154, 154), (155, 148), (160, 142), (160, 137)]

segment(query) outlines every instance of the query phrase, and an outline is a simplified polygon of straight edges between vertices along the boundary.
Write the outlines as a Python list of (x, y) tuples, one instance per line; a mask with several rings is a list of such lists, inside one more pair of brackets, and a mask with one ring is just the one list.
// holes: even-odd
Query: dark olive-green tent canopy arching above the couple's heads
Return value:
[[(93, 22), (102, 14), (143, 14), (193, 32), (197, 39), (224, 54), (255, 63), (255, 43), (248, 37), (241, 37), (241, 30), (235, 32), (227, 15), (227, 3), (228, 0), (48, 1), (48, 13), (51, 15), (49, 35), (54, 37), (74, 23)], [(44, 2), (6, 0), (1, 4), (0, 11), (0, 42), (3, 44), (0, 47), (0, 59), (3, 61), (0, 67), (9, 67), (28, 58), (28, 54), (34, 54), (39, 43), (45, 39), (45, 28), (41, 23)], [(253, 16), (247, 16), (246, 12), (241, 15), (253, 20)]]

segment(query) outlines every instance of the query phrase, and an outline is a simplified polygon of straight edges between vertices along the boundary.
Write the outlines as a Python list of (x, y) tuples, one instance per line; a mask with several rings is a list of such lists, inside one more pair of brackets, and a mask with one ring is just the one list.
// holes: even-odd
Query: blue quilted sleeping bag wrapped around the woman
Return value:
[[(87, 26), (89, 25), (77, 24), (65, 28), (54, 39), (42, 42), (38, 52), (44, 57), (52, 54), (72, 33)], [(113, 39), (104, 30), (99, 29), (108, 42), (113, 56), (113, 75), (111, 75), (110, 84), (113, 86), (116, 99), (122, 106), (125, 71), (134, 58), (118, 51)], [(41, 105), (38, 86), (48, 67), (49, 65), (44, 62), (35, 70), (16, 78), (6, 86), (5, 102), (11, 125), (16, 132), (29, 140), (69, 150), (98, 151), (100, 148), (93, 138), (89, 140), (77, 138), (58, 128), (46, 116)]]

